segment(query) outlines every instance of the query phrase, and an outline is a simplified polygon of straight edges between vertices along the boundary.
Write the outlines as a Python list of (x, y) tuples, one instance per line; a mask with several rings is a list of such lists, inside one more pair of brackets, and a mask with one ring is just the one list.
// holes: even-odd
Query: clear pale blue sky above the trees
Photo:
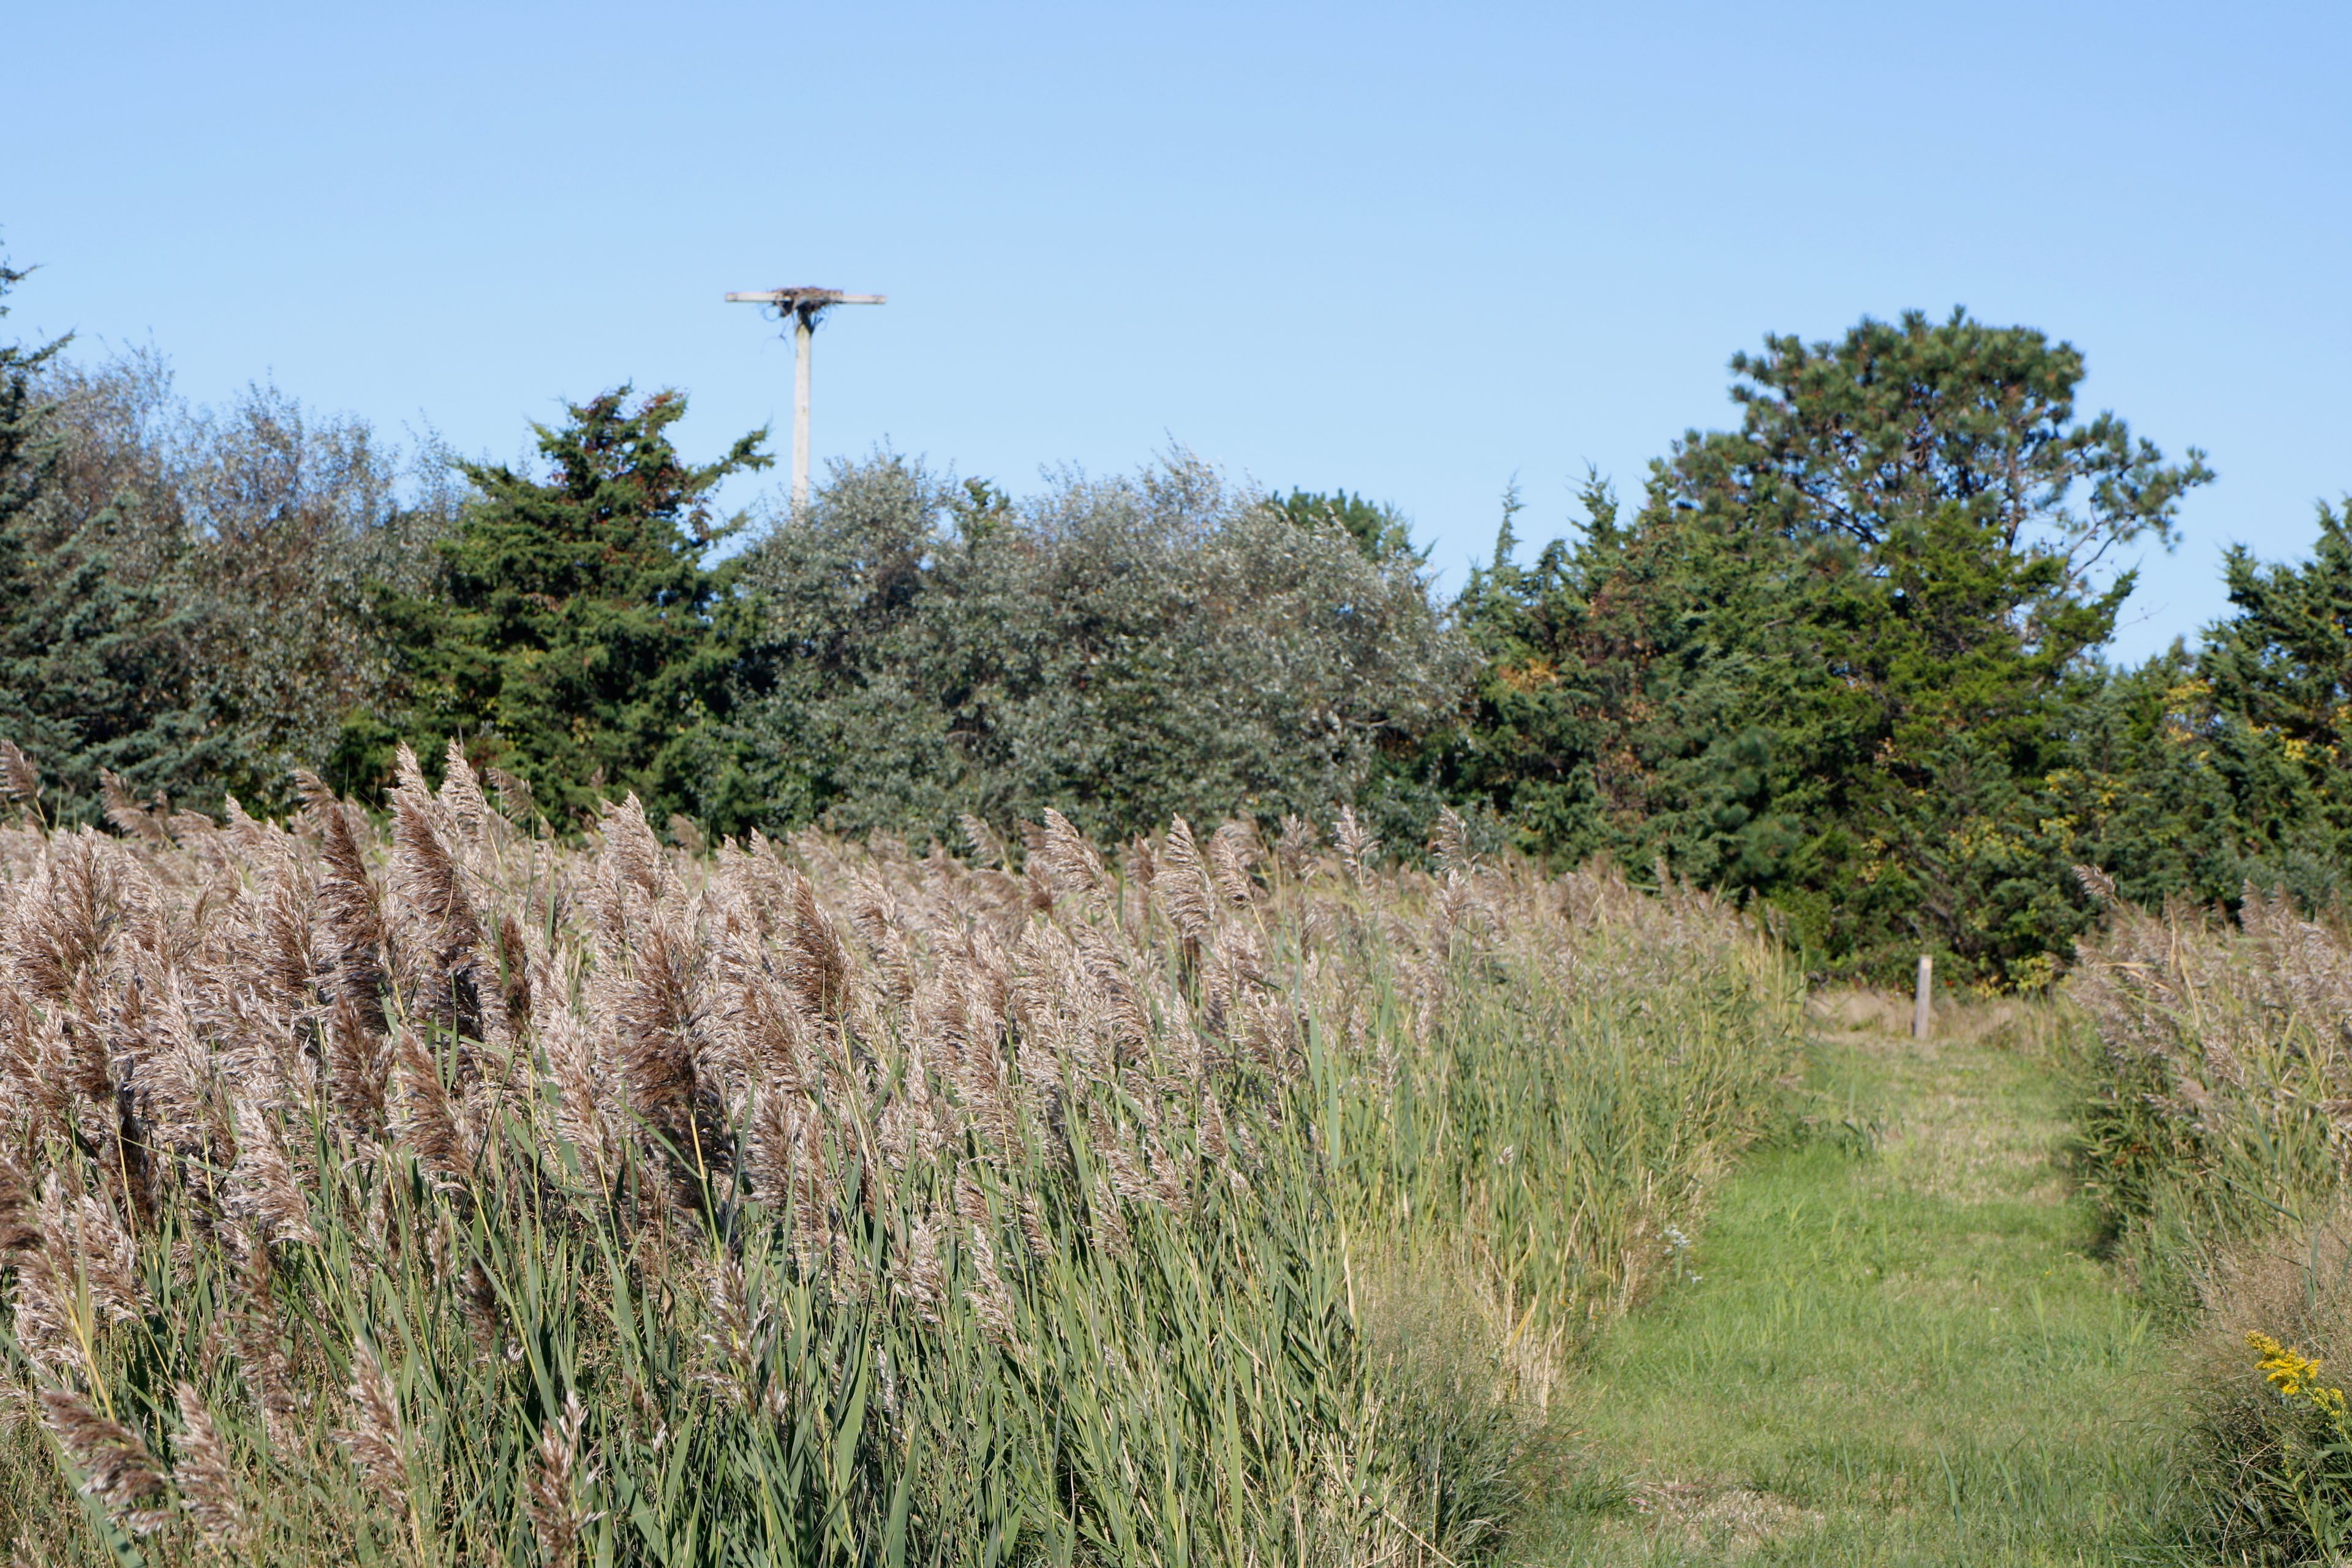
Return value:
[(7, 329), (501, 458), (677, 386), (710, 454), (790, 435), (727, 289), (887, 292), (818, 334), (818, 463), (1181, 442), (1392, 501), (1458, 583), (1512, 477), (1541, 538), (1729, 423), (1764, 331), (1966, 306), (2220, 470), (2136, 656), (2352, 489), (2347, 59), (2343, 2), (0, 0)]

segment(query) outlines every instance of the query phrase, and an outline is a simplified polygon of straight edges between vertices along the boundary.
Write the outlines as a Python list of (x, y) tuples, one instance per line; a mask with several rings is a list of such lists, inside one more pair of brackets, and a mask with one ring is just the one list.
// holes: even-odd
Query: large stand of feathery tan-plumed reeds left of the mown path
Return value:
[(1788, 1067), (1738, 917), (1458, 830), (567, 849), (405, 755), (108, 837), (7, 762), (47, 1561), (1472, 1561)]

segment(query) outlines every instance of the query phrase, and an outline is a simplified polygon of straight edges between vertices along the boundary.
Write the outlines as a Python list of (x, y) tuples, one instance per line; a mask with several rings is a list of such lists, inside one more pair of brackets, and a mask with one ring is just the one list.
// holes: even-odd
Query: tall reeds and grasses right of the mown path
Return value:
[(2194, 1561), (2340, 1561), (2340, 1373), (2267, 1380), (2249, 1335), (2352, 1356), (2352, 940), (2253, 889), (2230, 922), (2091, 882), (2110, 922), (2070, 980), (2096, 1032), (2079, 1171), (2183, 1328), (2169, 1523)]

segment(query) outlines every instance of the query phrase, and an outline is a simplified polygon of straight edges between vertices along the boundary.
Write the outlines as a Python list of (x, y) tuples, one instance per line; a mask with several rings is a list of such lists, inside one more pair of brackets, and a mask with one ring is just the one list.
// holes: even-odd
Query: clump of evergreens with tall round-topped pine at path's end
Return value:
[(1962, 313), (1733, 371), (1740, 428), (1677, 442), (1630, 524), (1592, 487), (1534, 569), (1505, 529), (1458, 776), (1536, 851), (1771, 898), (1828, 969), (2046, 973), (2089, 919), (2063, 785), (2131, 590), (2105, 564), (2211, 473), (2077, 423), (2072, 346)]

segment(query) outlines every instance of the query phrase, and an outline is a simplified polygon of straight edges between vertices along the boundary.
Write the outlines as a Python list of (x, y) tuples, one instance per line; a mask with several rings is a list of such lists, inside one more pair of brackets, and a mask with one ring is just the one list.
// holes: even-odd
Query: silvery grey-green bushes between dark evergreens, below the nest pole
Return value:
[[(1378, 536), (1374, 536), (1376, 541)], [(776, 820), (950, 837), (957, 813), (1129, 835), (1355, 804), (1411, 839), (1406, 764), (1470, 654), (1406, 555), (1190, 456), (1011, 503), (842, 465), (743, 559), (739, 719)]]

